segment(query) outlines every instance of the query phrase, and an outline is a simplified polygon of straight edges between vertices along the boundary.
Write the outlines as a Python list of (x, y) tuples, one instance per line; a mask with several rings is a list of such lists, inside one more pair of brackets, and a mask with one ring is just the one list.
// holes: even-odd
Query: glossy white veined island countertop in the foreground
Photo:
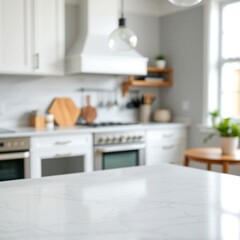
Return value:
[(162, 165), (0, 183), (1, 240), (239, 240), (240, 178)]

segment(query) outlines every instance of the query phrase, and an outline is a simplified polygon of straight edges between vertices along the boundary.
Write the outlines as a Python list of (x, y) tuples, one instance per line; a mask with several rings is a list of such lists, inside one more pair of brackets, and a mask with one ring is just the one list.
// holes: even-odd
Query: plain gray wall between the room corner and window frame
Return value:
[(176, 119), (190, 120), (188, 145), (199, 147), (203, 145), (197, 127), (203, 115), (203, 6), (161, 17), (160, 24), (161, 49), (174, 69), (174, 85), (162, 89), (162, 106)]

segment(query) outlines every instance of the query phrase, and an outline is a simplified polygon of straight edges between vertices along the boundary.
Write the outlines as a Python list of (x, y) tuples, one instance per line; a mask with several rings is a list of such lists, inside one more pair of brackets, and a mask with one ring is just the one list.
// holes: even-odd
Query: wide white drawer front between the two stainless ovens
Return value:
[(66, 148), (77, 147), (92, 144), (91, 134), (83, 135), (59, 135), (50, 137), (33, 137), (31, 138), (31, 149), (45, 148)]

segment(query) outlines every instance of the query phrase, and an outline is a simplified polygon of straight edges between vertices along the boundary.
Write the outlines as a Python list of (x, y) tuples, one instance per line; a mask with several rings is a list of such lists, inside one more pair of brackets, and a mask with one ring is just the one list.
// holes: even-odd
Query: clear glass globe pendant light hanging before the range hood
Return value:
[(115, 51), (129, 51), (137, 46), (136, 34), (126, 27), (126, 18), (124, 18), (124, 0), (121, 0), (119, 27), (111, 33), (108, 40), (108, 46)]

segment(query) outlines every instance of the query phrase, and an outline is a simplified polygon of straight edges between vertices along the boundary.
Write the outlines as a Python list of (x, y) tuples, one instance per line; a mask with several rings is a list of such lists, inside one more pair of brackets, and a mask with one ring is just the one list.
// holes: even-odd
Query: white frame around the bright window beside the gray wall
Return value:
[[(222, 7), (239, 0), (206, 0), (204, 2), (204, 125), (210, 124), (209, 112), (220, 108), (221, 66), (236, 59), (221, 60)], [(237, 59), (240, 60), (240, 59)]]

